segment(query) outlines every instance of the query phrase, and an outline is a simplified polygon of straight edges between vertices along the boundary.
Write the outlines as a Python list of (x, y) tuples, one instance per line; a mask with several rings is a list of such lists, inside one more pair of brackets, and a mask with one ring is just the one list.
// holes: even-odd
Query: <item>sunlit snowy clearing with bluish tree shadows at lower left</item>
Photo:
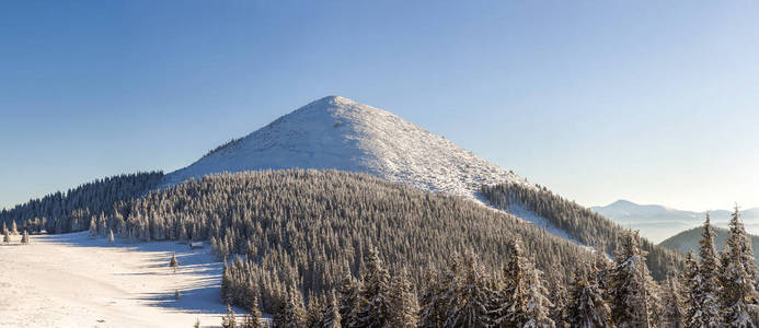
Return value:
[[(0, 244), (0, 327), (218, 327), (221, 263), (176, 242), (108, 245), (87, 232)], [(169, 267), (176, 253), (180, 268)], [(174, 291), (181, 297), (174, 300)]]

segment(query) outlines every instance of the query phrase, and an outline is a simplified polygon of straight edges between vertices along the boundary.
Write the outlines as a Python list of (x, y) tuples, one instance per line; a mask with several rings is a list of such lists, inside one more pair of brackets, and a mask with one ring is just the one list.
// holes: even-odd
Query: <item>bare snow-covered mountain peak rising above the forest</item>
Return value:
[(335, 168), (474, 198), (482, 184), (527, 183), (392, 113), (341, 96), (312, 102), (168, 174), (162, 186), (220, 172)]

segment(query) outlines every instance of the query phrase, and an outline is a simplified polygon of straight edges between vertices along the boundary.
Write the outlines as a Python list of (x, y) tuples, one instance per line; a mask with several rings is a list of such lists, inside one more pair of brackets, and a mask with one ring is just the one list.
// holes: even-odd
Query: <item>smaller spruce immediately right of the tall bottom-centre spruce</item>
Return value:
[(416, 290), (409, 282), (405, 268), (396, 272), (390, 282), (391, 314), (388, 319), (390, 327), (415, 328), (418, 323), (419, 304)]

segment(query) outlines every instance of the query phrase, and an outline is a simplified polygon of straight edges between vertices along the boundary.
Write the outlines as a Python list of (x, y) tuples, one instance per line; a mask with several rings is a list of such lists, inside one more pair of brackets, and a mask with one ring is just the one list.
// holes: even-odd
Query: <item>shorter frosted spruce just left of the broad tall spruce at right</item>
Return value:
[[(589, 271), (589, 272), (588, 272)], [(595, 266), (578, 267), (566, 307), (566, 320), (571, 327), (614, 327), (611, 308), (603, 300), (603, 291), (596, 281)]]

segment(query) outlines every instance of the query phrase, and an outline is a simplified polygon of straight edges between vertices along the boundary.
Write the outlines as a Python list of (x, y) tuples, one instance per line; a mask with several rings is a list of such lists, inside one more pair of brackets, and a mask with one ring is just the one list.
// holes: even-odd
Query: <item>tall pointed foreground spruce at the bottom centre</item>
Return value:
[(350, 326), (386, 327), (391, 315), (390, 276), (373, 247), (369, 248), (365, 263), (358, 312)]

